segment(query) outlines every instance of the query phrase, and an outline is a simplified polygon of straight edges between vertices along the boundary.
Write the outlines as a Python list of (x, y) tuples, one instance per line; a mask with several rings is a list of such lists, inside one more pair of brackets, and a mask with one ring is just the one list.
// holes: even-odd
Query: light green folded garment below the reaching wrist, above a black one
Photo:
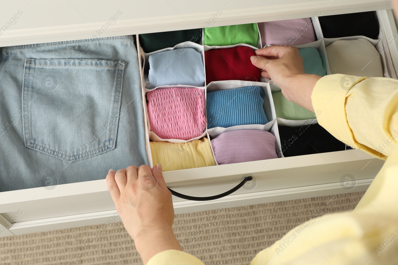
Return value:
[(282, 91), (272, 92), (277, 118), (286, 120), (309, 120), (315, 119), (315, 113), (288, 101)]

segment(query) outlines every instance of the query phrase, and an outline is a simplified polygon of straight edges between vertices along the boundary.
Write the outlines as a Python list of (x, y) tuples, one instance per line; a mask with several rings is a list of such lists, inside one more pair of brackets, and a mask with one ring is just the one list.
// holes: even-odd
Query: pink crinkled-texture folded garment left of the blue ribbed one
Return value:
[(189, 140), (206, 129), (205, 93), (171, 87), (146, 93), (150, 130), (162, 139)]

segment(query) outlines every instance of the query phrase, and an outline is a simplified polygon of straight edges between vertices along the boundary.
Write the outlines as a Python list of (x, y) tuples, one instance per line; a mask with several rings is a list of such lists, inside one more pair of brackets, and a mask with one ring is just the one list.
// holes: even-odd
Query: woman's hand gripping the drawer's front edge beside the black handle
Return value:
[(147, 165), (109, 170), (106, 182), (123, 224), (133, 238), (144, 264), (164, 250), (181, 250), (172, 230), (172, 194), (162, 166)]

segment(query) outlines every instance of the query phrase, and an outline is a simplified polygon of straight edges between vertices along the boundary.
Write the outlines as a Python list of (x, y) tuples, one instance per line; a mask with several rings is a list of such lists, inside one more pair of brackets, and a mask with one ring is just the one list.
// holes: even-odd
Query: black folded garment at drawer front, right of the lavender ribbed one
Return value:
[(345, 150), (342, 143), (319, 124), (299, 127), (278, 126), (285, 157)]

